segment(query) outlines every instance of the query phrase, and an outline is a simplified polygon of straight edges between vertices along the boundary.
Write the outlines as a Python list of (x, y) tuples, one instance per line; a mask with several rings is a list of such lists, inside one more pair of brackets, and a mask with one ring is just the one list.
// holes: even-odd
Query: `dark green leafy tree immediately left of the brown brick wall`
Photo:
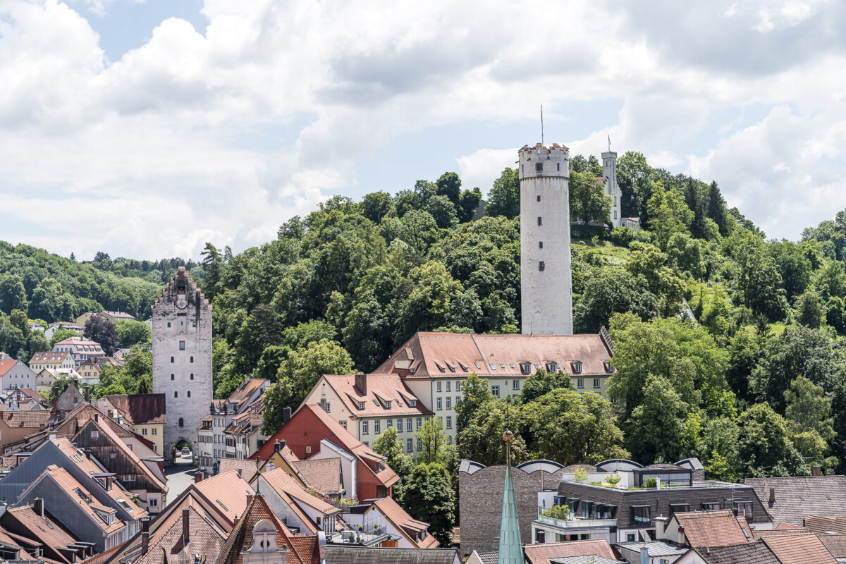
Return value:
[(440, 463), (417, 464), (405, 490), (405, 510), (429, 523), (429, 530), (443, 546), (453, 543), (455, 498), (447, 468)]

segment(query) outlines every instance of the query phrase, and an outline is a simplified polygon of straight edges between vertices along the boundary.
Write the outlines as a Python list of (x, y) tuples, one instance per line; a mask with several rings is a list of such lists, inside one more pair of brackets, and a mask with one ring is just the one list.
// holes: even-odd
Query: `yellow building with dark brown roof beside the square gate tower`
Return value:
[(97, 400), (97, 409), (118, 424), (153, 443), (152, 449), (162, 454), (164, 446), (164, 394), (113, 394)]

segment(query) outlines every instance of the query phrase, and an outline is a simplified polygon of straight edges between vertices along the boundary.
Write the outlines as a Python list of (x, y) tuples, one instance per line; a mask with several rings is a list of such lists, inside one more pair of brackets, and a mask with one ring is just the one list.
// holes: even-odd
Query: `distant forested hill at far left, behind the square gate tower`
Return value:
[(185, 264), (202, 280), (202, 268), (182, 259), (112, 260), (99, 252), (94, 260), (78, 262), (0, 241), (0, 314), (20, 309), (32, 320), (52, 323), (106, 309), (144, 320), (173, 271)]

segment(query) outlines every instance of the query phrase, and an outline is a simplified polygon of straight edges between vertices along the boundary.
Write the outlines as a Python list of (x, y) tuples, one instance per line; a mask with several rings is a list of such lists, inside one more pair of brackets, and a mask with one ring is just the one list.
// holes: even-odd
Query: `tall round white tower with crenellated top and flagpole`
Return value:
[(570, 150), (558, 143), (519, 150), (520, 293), (525, 334), (573, 334)]

